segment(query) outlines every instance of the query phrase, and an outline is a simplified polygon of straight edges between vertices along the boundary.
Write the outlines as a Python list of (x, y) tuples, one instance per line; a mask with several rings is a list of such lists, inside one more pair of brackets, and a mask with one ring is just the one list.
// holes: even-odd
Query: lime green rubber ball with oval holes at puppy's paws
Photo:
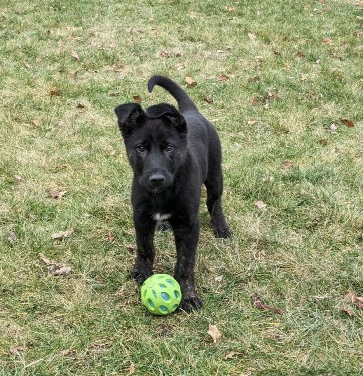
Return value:
[(141, 286), (141, 302), (150, 313), (165, 316), (181, 302), (180, 285), (169, 274), (154, 274)]

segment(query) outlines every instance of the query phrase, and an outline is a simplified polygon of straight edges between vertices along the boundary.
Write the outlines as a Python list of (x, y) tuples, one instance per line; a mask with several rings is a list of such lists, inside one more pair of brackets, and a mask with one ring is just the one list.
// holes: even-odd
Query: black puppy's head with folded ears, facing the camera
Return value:
[(171, 186), (186, 154), (184, 117), (166, 103), (151, 106), (146, 112), (140, 104), (122, 104), (115, 112), (139, 184), (152, 193)]

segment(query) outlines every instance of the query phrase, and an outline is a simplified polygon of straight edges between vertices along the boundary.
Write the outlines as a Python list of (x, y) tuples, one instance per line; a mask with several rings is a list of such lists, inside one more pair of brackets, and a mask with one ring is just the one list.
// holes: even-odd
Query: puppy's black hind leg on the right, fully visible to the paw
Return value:
[(214, 233), (217, 238), (228, 239), (232, 236), (232, 232), (227, 225), (222, 209), (223, 176), (220, 165), (214, 165), (214, 171), (208, 172), (204, 184), (207, 188), (207, 208)]

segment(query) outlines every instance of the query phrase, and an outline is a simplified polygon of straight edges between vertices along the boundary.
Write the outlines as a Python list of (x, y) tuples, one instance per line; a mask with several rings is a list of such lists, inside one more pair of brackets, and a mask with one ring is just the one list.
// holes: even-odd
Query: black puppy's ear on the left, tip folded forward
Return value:
[(115, 108), (115, 113), (118, 119), (118, 127), (123, 137), (130, 136), (135, 127), (146, 119), (144, 110), (137, 103), (122, 104)]

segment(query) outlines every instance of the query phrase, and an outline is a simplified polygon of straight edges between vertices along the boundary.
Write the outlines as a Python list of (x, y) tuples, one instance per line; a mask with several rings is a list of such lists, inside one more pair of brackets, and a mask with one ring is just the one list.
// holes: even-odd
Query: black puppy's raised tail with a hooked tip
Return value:
[(188, 94), (170, 78), (158, 75), (152, 76), (148, 82), (149, 93), (152, 92), (155, 85), (163, 87), (176, 99), (181, 113), (190, 110), (198, 111)]

